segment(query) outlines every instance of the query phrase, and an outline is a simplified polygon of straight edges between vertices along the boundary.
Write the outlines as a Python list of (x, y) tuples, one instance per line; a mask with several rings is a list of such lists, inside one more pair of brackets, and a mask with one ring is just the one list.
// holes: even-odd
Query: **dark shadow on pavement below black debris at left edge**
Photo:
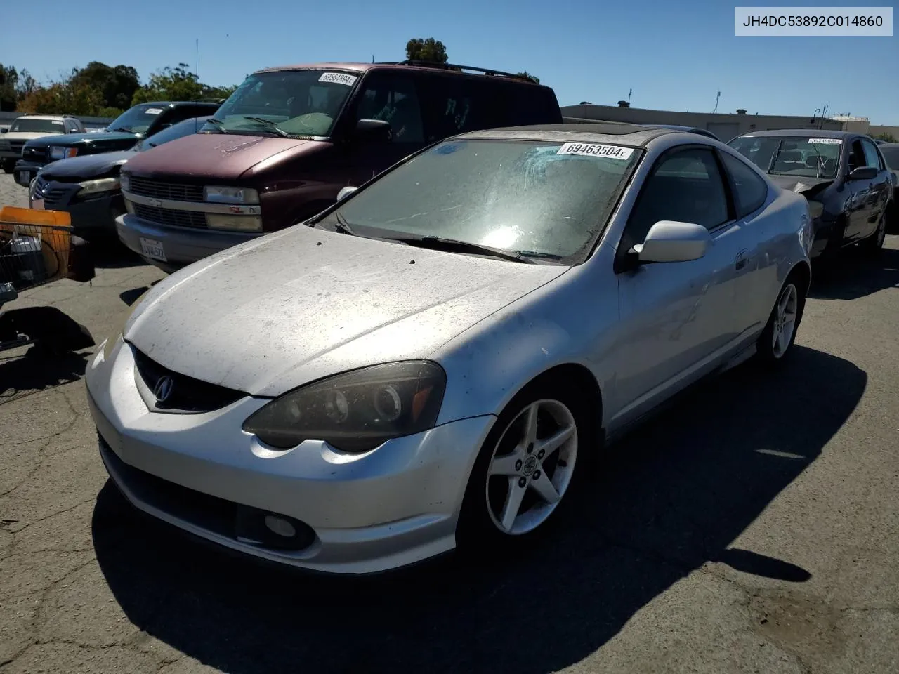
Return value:
[(77, 381), (90, 356), (90, 351), (48, 355), (34, 345), (22, 355), (10, 353), (0, 352), (0, 405)]

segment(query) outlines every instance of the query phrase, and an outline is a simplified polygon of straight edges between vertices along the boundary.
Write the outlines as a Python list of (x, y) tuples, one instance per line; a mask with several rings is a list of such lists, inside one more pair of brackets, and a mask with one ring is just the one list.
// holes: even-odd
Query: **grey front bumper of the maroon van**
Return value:
[[(126, 213), (116, 218), (116, 231), (123, 244), (161, 270), (175, 271), (198, 262), (213, 253), (251, 241), (260, 234), (227, 232), (216, 229), (160, 225)], [(148, 257), (141, 239), (162, 244), (165, 260)]]

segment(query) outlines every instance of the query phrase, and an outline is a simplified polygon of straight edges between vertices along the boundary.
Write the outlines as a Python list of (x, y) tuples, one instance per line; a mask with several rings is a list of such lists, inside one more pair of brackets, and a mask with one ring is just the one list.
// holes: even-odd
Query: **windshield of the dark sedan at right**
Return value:
[(840, 164), (840, 138), (808, 136), (737, 137), (727, 145), (772, 175), (833, 178)]

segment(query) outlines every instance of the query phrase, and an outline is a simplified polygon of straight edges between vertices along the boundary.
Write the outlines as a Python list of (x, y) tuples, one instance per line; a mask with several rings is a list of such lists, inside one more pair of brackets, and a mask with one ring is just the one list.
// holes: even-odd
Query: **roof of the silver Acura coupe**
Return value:
[(574, 140), (587, 143), (618, 142), (630, 146), (645, 146), (653, 138), (669, 133), (677, 133), (677, 131), (631, 124), (537, 124), (528, 127), (503, 127), (501, 129), (468, 131), (453, 138), (555, 140), (562, 142)]

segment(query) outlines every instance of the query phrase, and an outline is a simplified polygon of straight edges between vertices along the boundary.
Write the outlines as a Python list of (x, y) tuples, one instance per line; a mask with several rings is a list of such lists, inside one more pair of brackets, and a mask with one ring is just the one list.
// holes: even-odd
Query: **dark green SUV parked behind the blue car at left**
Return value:
[(215, 114), (219, 104), (202, 101), (140, 103), (122, 112), (100, 132), (34, 138), (22, 147), (22, 159), (15, 164), (15, 182), (28, 187), (43, 166), (58, 159), (130, 149), (141, 138), (168, 129), (179, 121)]

